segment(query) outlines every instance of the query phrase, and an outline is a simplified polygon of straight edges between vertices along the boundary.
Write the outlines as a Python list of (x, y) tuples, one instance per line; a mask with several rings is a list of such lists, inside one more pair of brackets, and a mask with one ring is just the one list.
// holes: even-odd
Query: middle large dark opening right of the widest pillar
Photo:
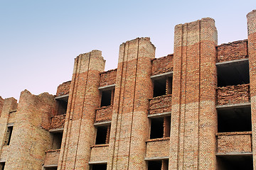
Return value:
[(218, 132), (252, 131), (250, 106), (218, 108)]

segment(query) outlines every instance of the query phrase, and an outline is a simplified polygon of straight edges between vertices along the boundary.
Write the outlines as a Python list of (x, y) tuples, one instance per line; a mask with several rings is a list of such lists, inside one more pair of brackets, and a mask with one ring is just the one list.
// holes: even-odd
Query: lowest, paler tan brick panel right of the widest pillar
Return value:
[(218, 133), (217, 153), (252, 152), (252, 132)]

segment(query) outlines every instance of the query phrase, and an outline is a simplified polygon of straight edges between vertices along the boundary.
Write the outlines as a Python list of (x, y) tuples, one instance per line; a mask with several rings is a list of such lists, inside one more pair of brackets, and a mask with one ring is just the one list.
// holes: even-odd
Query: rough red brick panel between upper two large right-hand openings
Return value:
[(218, 87), (216, 105), (250, 102), (250, 84)]

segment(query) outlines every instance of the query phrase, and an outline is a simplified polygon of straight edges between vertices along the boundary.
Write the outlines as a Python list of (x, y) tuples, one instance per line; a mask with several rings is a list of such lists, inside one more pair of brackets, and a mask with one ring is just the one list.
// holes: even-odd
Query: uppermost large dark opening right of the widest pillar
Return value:
[(217, 64), (217, 72), (219, 87), (250, 83), (248, 60)]

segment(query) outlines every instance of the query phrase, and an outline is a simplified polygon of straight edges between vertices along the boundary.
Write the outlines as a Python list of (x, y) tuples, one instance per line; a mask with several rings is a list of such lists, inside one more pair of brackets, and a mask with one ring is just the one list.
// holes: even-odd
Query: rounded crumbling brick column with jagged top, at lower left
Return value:
[(48, 130), (54, 103), (54, 96), (48, 93), (21, 92), (4, 169), (42, 169), (50, 149)]

